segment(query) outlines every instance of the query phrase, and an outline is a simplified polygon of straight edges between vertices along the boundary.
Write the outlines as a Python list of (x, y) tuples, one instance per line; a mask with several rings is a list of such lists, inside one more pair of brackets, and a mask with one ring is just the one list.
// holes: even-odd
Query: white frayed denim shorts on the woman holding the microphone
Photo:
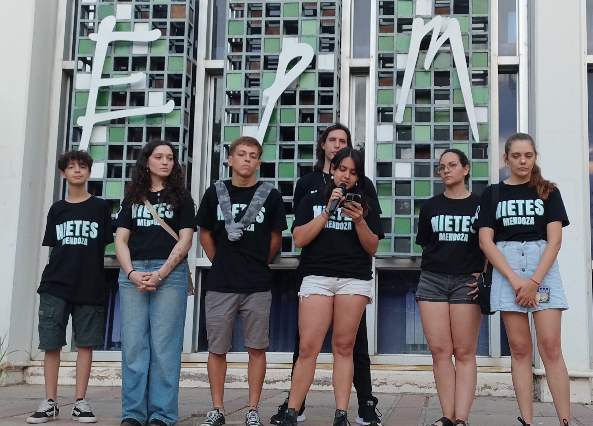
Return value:
[(302, 278), (299, 297), (307, 297), (310, 294), (323, 294), (334, 296), (334, 294), (361, 294), (369, 298), (367, 303), (372, 302), (372, 280), (358, 280), (357, 278), (336, 278), (308, 275)]

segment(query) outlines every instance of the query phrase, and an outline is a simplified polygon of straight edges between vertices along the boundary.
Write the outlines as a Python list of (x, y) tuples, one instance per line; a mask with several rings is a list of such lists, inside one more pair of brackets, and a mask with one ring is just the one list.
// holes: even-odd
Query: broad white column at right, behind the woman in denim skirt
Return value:
[[(530, 14), (530, 131), (570, 219), (558, 255), (570, 308), (562, 314), (562, 348), (568, 370), (584, 372), (592, 328), (585, 0), (531, 0)], [(551, 400), (545, 379), (539, 387), (540, 398)], [(589, 379), (571, 380), (570, 389), (573, 402), (591, 402)]]

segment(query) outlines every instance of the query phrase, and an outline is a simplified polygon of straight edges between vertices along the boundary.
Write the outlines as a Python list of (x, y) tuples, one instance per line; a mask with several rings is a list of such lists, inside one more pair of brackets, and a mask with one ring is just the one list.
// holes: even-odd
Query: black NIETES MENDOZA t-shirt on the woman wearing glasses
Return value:
[(442, 274), (473, 274), (484, 270), (478, 234), (471, 227), (480, 197), (455, 199), (439, 194), (420, 207), (416, 244), (422, 251), (420, 268)]

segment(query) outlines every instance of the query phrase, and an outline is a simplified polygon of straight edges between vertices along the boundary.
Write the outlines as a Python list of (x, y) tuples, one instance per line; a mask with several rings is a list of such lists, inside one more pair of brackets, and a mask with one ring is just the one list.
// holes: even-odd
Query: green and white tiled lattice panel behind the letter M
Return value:
[[(431, 1), (431, 16), (420, 15), (425, 24), (435, 16), (456, 19), (467, 57), (471, 100), (479, 111), (480, 121), (489, 120), (490, 106), (490, 16), (489, 0)], [(425, 69), (426, 54), (432, 33), (425, 36), (417, 57), (410, 57), (411, 24), (419, 14), (416, 1), (377, 2), (374, 87), (376, 110), (373, 174), (380, 197), (385, 239), (378, 253), (415, 255), (422, 248), (414, 244), (418, 214), (422, 202), (442, 193), (444, 184), (433, 167), (448, 148), (466, 153), (471, 162), (468, 188), (480, 193), (490, 181), (490, 123), (477, 123), (479, 143), (475, 140), (467, 116), (466, 100), (461, 92), (450, 43), (436, 51)], [(423, 13), (423, 12), (420, 12)], [(391, 37), (394, 46), (391, 49)], [(439, 34), (442, 36), (442, 33)], [(445, 48), (446, 46), (446, 48)], [(410, 93), (403, 119), (396, 122), (397, 102), (403, 91), (407, 62), (415, 60)], [(460, 66), (463, 66), (461, 64)], [(487, 110), (484, 109), (487, 107)], [(486, 113), (484, 114), (484, 111)], [(366, 155), (369, 155), (367, 152)]]

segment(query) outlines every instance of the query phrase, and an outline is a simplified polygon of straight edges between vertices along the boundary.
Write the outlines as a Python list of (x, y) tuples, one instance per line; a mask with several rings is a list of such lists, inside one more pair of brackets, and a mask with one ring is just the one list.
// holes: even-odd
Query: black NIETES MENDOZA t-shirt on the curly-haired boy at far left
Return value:
[(103, 256), (110, 242), (113, 230), (107, 201), (91, 196), (81, 203), (53, 204), (43, 237), (43, 245), (53, 249), (37, 293), (78, 305), (103, 305)]

